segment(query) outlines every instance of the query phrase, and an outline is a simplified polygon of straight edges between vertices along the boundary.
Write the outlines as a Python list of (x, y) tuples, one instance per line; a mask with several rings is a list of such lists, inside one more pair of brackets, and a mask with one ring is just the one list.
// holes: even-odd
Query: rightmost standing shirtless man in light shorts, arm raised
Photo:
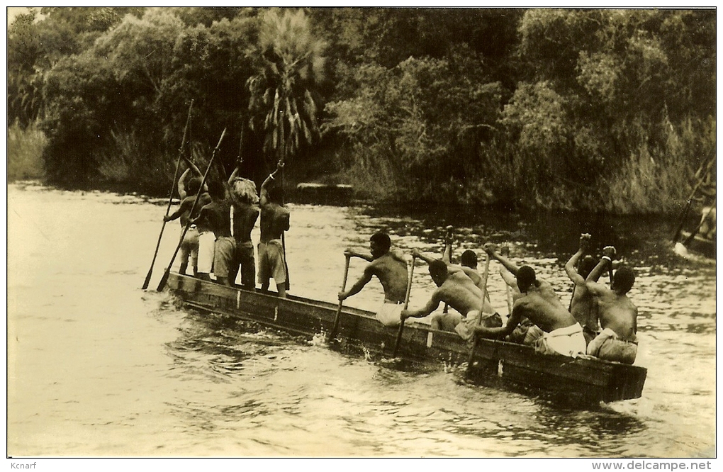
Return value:
[(259, 241), (259, 283), (262, 291), (268, 291), (269, 279), (273, 277), (278, 296), (286, 298), (286, 259), (283, 254), (281, 235), (289, 228), (289, 213), (281, 204), (281, 186), (275, 185), (275, 175), (283, 167), (269, 174), (261, 184), (261, 240)]

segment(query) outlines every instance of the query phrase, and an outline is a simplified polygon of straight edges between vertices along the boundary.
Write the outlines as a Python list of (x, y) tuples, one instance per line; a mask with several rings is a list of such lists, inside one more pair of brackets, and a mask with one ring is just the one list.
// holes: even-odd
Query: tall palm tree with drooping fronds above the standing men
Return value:
[(315, 87), (323, 78), (325, 43), (314, 38), (303, 10), (265, 13), (259, 32), (262, 66), (249, 77), (249, 127), (264, 136), (264, 153), (283, 162), (319, 135)]

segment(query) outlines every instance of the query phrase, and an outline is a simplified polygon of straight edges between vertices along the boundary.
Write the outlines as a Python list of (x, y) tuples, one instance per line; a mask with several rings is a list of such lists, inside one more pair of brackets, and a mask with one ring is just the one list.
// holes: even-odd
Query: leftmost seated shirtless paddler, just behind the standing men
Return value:
[(406, 298), (408, 283), (407, 262), (403, 252), (399, 249), (390, 250), (392, 243), (385, 233), (375, 233), (369, 238), (371, 257), (367, 254), (347, 249), (344, 254), (348, 257), (361, 257), (369, 262), (364, 267), (361, 278), (347, 291), (339, 292), (339, 300), (348, 299), (359, 293), (364, 286), (376, 275), (384, 288), (384, 304), (377, 311), (377, 320), (385, 326), (398, 326), (401, 322), (400, 313)]

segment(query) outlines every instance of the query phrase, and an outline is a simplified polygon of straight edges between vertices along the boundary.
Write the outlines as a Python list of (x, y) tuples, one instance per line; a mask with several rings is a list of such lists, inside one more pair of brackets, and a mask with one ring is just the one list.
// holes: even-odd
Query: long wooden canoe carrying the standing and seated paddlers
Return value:
[[(169, 275), (167, 289), (182, 304), (201, 312), (253, 321), (309, 338), (330, 332), (338, 308), (325, 301), (292, 295), (280, 299), (274, 294), (225, 287), (176, 273)], [(344, 306), (336, 339), (391, 356), (397, 332), (395, 327), (383, 326), (372, 312)], [(408, 322), (397, 356), (409, 361), (466, 366), (469, 346), (455, 332)], [(647, 374), (641, 366), (540, 354), (529, 346), (487, 339), (479, 340), (472, 365), (465, 372), (471, 382), (489, 383), (494, 379), (503, 387), (531, 395), (585, 404), (640, 398)]]

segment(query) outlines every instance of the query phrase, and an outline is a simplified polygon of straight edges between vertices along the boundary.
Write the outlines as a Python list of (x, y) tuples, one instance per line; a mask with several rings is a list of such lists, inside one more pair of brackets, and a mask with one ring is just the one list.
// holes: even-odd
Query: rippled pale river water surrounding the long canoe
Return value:
[[(153, 288), (180, 234), (168, 223), (143, 280), (163, 200), (8, 187), (8, 455), (33, 457), (534, 457), (715, 455), (716, 274), (672, 254), (675, 222), (591, 215), (521, 218), (458, 208), (289, 205), (291, 293), (335, 301), (343, 249), (379, 229), (406, 252), (458, 257), (508, 244), (567, 303), (563, 265), (581, 232), (615, 244), (637, 273), (642, 398), (576, 410), (454, 372), (403, 372), (318, 340), (243, 332), (179, 309)], [(254, 231), (257, 241), (257, 230)], [(349, 283), (361, 274), (353, 259)], [(489, 290), (506, 312), (492, 262)], [(273, 284), (272, 284), (273, 286)], [(410, 306), (432, 292), (414, 273)], [(348, 300), (372, 309), (377, 280)]]

